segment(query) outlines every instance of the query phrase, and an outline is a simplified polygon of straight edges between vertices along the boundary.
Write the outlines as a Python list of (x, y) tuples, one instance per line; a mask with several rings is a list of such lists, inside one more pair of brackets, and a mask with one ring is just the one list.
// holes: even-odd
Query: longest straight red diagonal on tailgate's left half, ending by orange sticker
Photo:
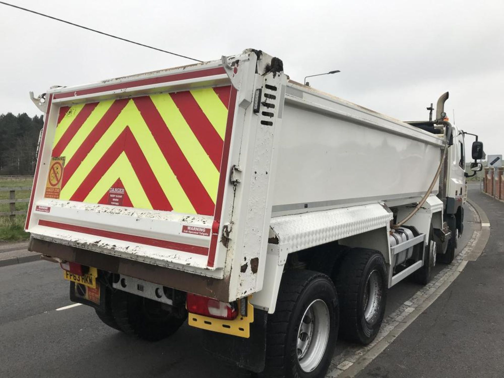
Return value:
[[(110, 106), (110, 108), (105, 112), (103, 117), (98, 121), (96, 126), (93, 128), (91, 133), (86, 137), (82, 145), (77, 149), (72, 159), (65, 165), (65, 174), (63, 175), (63, 180), (61, 182), (61, 187), (65, 187), (65, 184), (70, 177), (74, 174), (76, 169), (81, 165), (81, 162), (89, 154), (92, 148), (100, 140), (100, 138), (108, 130), (112, 122), (117, 118), (119, 113), (122, 111), (124, 106), (128, 104), (130, 99), (124, 98), (121, 100), (116, 100)], [(54, 155), (53, 156), (57, 156)]]

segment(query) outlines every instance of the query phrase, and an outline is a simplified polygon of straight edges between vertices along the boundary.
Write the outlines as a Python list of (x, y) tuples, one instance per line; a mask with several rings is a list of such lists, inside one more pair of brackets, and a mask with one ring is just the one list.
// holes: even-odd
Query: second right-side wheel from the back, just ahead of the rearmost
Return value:
[(340, 335), (369, 344), (382, 325), (387, 301), (387, 267), (379, 251), (352, 248), (334, 276), (340, 299)]

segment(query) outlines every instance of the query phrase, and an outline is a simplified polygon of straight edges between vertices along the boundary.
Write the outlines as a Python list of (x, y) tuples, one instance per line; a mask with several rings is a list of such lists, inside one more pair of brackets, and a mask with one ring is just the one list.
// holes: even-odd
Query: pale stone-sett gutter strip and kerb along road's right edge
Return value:
[[(473, 213), (476, 210), (469, 207)], [(477, 213), (475, 218), (479, 219)], [(331, 361), (327, 378), (353, 377), (375, 357), (382, 353), (413, 321), (432, 304), (457, 278), (467, 264), (466, 255), (476, 245), (483, 231), (474, 230), (467, 245), (454, 261), (440, 271), (427, 285), (420, 289), (397, 310), (384, 319), (380, 332), (373, 342), (366, 346), (349, 346)]]

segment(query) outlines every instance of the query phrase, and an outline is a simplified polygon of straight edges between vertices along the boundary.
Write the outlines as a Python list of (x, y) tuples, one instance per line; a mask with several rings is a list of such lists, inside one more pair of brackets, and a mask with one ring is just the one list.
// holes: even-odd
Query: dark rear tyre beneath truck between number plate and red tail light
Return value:
[(113, 293), (112, 313), (121, 331), (147, 341), (171, 336), (187, 319), (185, 308), (175, 308), (120, 290)]

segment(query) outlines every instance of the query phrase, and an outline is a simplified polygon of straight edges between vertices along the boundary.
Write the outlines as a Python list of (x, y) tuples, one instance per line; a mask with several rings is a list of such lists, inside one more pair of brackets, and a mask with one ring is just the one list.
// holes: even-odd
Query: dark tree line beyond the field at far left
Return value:
[(31, 175), (37, 162), (42, 115), (0, 114), (0, 175)]

